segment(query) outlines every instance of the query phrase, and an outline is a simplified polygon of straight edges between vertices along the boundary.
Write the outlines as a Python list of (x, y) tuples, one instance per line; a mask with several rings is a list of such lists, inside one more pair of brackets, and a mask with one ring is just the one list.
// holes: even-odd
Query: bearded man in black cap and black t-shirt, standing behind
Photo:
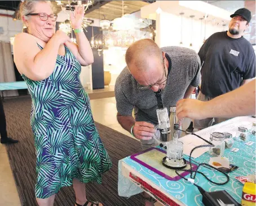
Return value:
[[(255, 77), (255, 53), (252, 45), (242, 34), (248, 28), (251, 12), (240, 8), (232, 14), (229, 30), (211, 35), (202, 45), (201, 91), (197, 99), (208, 101), (249, 83)], [(194, 127), (204, 129), (225, 118), (195, 120)]]

